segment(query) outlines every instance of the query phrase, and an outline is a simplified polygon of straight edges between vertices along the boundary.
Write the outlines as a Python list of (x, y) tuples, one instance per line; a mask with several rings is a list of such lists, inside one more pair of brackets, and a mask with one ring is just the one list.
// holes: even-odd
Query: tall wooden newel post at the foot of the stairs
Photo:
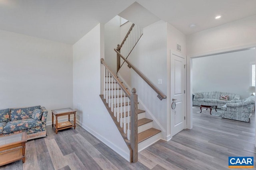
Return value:
[(138, 161), (138, 95), (136, 88), (132, 88), (131, 94), (131, 148), (132, 162)]

